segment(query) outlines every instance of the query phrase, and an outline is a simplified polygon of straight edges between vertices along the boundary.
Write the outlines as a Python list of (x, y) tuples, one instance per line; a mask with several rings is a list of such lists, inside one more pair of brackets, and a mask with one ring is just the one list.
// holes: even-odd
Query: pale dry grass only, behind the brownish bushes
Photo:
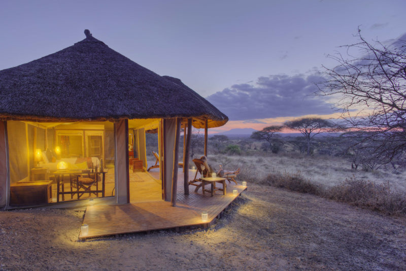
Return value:
[[(223, 158), (222, 158), (223, 157)], [(307, 157), (300, 153), (267, 154), (266, 156), (227, 156), (227, 170), (242, 169), (239, 178), (249, 182), (259, 183), (269, 174), (300, 172), (310, 182), (323, 187), (340, 185), (346, 179), (357, 179), (371, 181), (377, 184), (390, 184), (391, 188), (397, 191), (406, 191), (406, 171), (394, 172), (388, 168), (365, 172), (362, 170), (351, 170), (351, 163), (346, 159), (331, 156)], [(224, 155), (210, 156), (218, 167), (224, 160)]]

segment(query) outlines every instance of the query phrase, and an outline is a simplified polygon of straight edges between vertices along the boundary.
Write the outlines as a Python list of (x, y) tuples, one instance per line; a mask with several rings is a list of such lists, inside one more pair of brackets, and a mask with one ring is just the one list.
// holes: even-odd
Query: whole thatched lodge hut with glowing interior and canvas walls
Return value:
[[(118, 204), (129, 202), (130, 160), (141, 161), (142, 171), (147, 167), (146, 130), (158, 133), (161, 197), (175, 205), (181, 126), (189, 133), (192, 126), (205, 128), (206, 154), (207, 129), (224, 125), (227, 116), (181, 80), (155, 74), (89, 30), (85, 35), (73, 46), (0, 71), (0, 207), (60, 201), (55, 182), (66, 165), (108, 168), (111, 194)], [(65, 189), (66, 198), (74, 198)]]

